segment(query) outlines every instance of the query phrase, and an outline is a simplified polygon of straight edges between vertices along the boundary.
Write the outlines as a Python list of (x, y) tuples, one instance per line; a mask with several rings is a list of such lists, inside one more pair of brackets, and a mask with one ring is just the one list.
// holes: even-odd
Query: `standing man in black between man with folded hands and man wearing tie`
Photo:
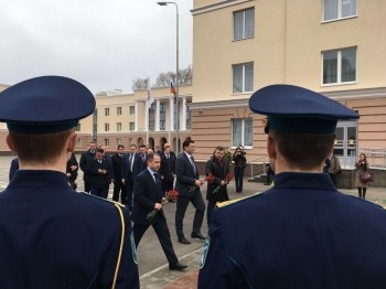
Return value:
[(114, 182), (112, 201), (119, 202), (119, 195), (120, 195), (120, 203), (122, 205), (126, 205), (126, 202), (127, 202), (126, 186), (125, 186), (125, 182), (122, 182), (124, 158), (125, 158), (125, 146), (118, 144), (117, 152), (111, 157), (112, 182)]

